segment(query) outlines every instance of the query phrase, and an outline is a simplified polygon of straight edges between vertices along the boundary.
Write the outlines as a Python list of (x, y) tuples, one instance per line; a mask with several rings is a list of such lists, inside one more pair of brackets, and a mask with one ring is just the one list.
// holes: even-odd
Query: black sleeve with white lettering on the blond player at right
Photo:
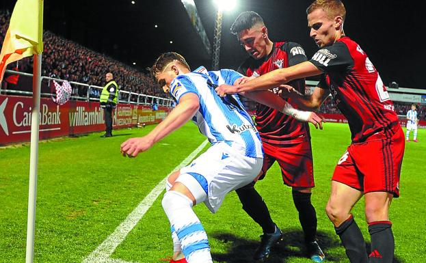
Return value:
[(336, 42), (325, 49), (320, 49), (309, 60), (322, 72), (347, 72), (354, 66), (346, 44)]

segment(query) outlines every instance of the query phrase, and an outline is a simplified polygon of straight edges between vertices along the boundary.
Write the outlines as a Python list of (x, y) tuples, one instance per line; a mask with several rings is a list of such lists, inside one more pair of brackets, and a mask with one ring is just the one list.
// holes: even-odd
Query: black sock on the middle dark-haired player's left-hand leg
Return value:
[(262, 227), (263, 233), (274, 233), (275, 223), (271, 219), (263, 198), (254, 189), (254, 182), (237, 189), (236, 192), (244, 211)]

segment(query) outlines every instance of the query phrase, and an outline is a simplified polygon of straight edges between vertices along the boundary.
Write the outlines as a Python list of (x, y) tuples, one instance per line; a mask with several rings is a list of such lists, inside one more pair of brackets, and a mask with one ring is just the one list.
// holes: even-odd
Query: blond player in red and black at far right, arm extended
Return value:
[[(269, 89), (293, 79), (322, 74), (310, 96), (289, 88), (292, 102), (319, 108), (331, 93), (349, 122), (352, 142), (332, 177), (326, 211), (350, 262), (391, 263), (395, 241), (389, 220), (393, 197), (399, 196), (399, 175), (405, 146), (403, 130), (380, 75), (362, 48), (343, 31), (346, 10), (340, 0), (317, 0), (306, 10), (310, 36), (321, 48), (310, 61), (274, 70), (238, 86), (219, 86), (219, 95)], [(351, 208), (364, 195), (371, 253)]]

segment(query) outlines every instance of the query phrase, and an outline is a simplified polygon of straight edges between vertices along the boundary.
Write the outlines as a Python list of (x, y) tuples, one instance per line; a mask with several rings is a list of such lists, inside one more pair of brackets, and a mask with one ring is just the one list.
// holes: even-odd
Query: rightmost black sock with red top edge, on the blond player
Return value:
[(395, 241), (390, 221), (377, 221), (369, 224), (371, 236), (370, 263), (392, 263)]

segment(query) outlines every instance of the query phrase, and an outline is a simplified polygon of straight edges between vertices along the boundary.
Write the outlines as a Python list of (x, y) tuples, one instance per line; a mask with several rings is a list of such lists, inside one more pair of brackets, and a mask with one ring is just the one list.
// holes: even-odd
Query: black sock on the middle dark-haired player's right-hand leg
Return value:
[(293, 202), (299, 212), (299, 221), (305, 234), (305, 243), (314, 242), (317, 237), (317, 213), (310, 202), (312, 193), (293, 191)]

